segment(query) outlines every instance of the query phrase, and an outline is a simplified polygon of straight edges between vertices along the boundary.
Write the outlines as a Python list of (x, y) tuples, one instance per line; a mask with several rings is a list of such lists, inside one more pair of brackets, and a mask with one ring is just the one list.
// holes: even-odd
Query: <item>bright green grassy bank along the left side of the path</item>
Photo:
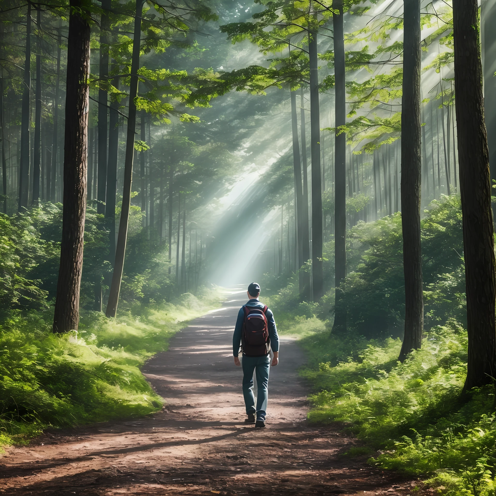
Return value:
[(78, 332), (52, 333), (50, 312), (0, 324), (0, 446), (48, 427), (139, 417), (162, 408), (140, 372), (192, 318), (221, 305), (219, 289), (107, 319), (84, 312)]

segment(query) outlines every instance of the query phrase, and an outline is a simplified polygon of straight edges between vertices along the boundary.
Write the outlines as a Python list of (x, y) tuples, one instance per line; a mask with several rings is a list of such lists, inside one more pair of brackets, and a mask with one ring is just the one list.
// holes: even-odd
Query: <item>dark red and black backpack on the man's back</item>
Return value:
[(243, 306), (245, 320), (241, 334), (241, 349), (250, 357), (262, 357), (270, 351), (269, 328), (267, 325), (267, 305), (262, 309)]

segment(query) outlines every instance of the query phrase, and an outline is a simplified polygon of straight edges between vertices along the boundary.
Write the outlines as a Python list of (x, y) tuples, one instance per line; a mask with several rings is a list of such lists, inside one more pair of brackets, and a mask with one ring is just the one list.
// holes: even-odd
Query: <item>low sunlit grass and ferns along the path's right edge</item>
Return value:
[(495, 495), (494, 388), (459, 401), (467, 362), (463, 327), (455, 321), (434, 327), (403, 364), (399, 339), (324, 331), (300, 344), (309, 358), (301, 374), (315, 391), (309, 420), (338, 422), (365, 441), (349, 456), (378, 450), (371, 464), (422, 476), (437, 494)]

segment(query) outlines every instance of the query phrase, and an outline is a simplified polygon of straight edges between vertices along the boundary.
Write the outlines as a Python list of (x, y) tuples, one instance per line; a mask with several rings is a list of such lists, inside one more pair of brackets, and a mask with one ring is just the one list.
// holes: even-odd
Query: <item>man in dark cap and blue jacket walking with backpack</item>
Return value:
[[(267, 410), (270, 351), (274, 353), (272, 367), (279, 363), (279, 336), (274, 315), (266, 305), (258, 301), (260, 286), (252, 282), (248, 286), (248, 303), (238, 312), (238, 320), (233, 335), (234, 363), (241, 365), (238, 358), (243, 353), (243, 396), (248, 418), (247, 424), (255, 428), (265, 427)], [(257, 383), (257, 398), (253, 395), (253, 372)], [(255, 421), (256, 415), (256, 421)]]

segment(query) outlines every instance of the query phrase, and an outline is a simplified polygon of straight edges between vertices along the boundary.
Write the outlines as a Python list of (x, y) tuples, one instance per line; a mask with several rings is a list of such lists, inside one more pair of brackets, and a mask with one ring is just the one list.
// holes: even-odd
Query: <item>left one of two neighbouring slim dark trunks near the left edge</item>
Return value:
[(21, 110), (21, 157), (19, 169), (19, 201), (17, 209), (19, 212), (28, 206), (29, 193), (29, 167), (31, 149), (29, 143), (30, 126), (30, 103), (31, 103), (31, 2), (28, 1), (28, 12), (26, 17), (26, 50), (24, 59), (24, 88), (22, 92)]

